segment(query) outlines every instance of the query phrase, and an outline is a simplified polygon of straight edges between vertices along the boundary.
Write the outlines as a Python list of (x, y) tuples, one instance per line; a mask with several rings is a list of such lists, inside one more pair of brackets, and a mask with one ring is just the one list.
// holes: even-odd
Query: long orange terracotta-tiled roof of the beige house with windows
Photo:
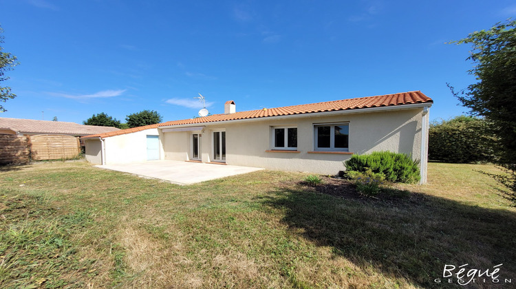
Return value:
[[(230, 100), (226, 103), (230, 103)], [(422, 92), (402, 92), (398, 94), (385, 94), (383, 96), (367, 96), (361, 98), (349, 98), (343, 100), (326, 101), (324, 103), (310, 103), (308, 105), (292, 105), (290, 107), (276, 107), (270, 109), (257, 109), (250, 111), (237, 111), (234, 114), (214, 114), (202, 118), (190, 118), (186, 120), (173, 120), (162, 122), (155, 125), (144, 127), (133, 127), (132, 129), (122, 129), (107, 133), (98, 133), (83, 138), (109, 138), (110, 136), (120, 136), (122, 134), (143, 131), (145, 129), (155, 129), (171, 125), (195, 125), (208, 122), (219, 122), (224, 120), (245, 120), (250, 118), (267, 118), (271, 116), (290, 116), (294, 114), (315, 114), (325, 111), (340, 111), (347, 109), (366, 109), (372, 107), (389, 107), (394, 105), (411, 105), (417, 103), (433, 103), (433, 100), (425, 96)]]

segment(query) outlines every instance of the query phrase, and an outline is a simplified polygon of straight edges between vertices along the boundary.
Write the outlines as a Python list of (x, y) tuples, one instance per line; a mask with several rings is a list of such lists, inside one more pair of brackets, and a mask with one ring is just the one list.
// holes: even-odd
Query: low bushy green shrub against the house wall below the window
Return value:
[(347, 174), (353, 171), (383, 175), (389, 182), (418, 182), (419, 161), (412, 160), (403, 153), (391, 151), (374, 151), (365, 155), (353, 155), (350, 160), (344, 162)]

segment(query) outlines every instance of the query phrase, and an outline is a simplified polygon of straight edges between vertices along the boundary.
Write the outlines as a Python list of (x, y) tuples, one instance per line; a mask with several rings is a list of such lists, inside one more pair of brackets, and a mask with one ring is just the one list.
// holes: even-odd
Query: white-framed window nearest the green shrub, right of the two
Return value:
[(315, 151), (349, 151), (350, 124), (327, 123), (314, 125)]

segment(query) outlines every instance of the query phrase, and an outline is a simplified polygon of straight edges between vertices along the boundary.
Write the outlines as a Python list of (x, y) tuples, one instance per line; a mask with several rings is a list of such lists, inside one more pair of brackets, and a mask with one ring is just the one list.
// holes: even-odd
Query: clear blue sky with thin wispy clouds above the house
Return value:
[(143, 109), (163, 120), (420, 90), (431, 119), (458, 106), (466, 45), (444, 44), (516, 17), (514, 1), (0, 0), (7, 118), (82, 123)]

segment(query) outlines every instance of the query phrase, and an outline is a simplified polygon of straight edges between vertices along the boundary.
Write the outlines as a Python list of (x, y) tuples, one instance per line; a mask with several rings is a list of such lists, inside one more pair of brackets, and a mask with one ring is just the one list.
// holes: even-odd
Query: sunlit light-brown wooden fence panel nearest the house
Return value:
[(80, 153), (79, 140), (75, 136), (30, 136), (32, 160), (59, 160), (75, 158)]

